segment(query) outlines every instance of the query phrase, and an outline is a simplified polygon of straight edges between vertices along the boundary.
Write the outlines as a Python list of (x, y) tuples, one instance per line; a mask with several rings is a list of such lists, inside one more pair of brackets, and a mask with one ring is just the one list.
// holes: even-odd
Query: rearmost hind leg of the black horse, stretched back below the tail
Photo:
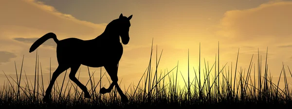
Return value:
[(65, 70), (67, 70), (68, 68), (69, 68), (69, 66), (67, 66), (67, 65), (63, 65), (63, 64), (59, 64), (59, 65), (58, 65), (58, 67), (56, 68), (55, 72), (54, 72), (53, 75), (52, 75), (52, 78), (51, 78), (50, 84), (49, 84), (49, 86), (47, 87), (46, 93), (45, 93), (44, 98), (43, 98), (43, 101), (44, 101), (44, 102), (47, 102), (47, 101), (50, 99), (50, 95), (51, 95), (51, 92), (52, 92), (52, 88), (53, 88), (53, 85), (54, 85), (55, 80), (57, 79), (57, 77), (58, 77), (62, 72), (64, 72)]

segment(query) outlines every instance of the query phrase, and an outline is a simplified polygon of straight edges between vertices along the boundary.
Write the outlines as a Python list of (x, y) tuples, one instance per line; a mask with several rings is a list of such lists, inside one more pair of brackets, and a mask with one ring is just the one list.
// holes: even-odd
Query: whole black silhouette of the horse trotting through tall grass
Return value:
[[(37, 41), (30, 47), (29, 52), (33, 52), (42, 43), (50, 38), (53, 38), (56, 47), (56, 55), (58, 67), (53, 73), (50, 84), (43, 97), (44, 102), (50, 100), (51, 91), (55, 83), (56, 78), (65, 70), (71, 68), (69, 78), (78, 85), (78, 87), (84, 92), (85, 98), (91, 98), (90, 93), (76, 77), (75, 74), (80, 65), (86, 65), (89, 67), (102, 67), (106, 69), (110, 75), (112, 83), (109, 88), (101, 88), (100, 93), (110, 93), (113, 86), (117, 88), (118, 93), (121, 96), (122, 102), (128, 102), (128, 97), (123, 93), (119, 87), (118, 81), (118, 62), (123, 54), (123, 46), (120, 42), (127, 45), (129, 42), (129, 27), (130, 19), (133, 15), (126, 17), (121, 14), (119, 18), (112, 20), (106, 27), (105, 31), (91, 40), (81, 40), (77, 38), (67, 38), (58, 40), (55, 33), (49, 32), (44, 36), (37, 39)], [(96, 52), (94, 52), (96, 51)]]

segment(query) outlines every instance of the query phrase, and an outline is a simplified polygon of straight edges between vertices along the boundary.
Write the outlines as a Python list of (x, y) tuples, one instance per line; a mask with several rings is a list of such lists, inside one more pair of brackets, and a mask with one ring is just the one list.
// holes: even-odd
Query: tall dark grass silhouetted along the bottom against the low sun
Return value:
[[(153, 42), (152, 42), (153, 45)], [(217, 59), (209, 66), (209, 62), (205, 62), (201, 66), (199, 64), (199, 72), (193, 68), (195, 78), (183, 77), (177, 65), (170, 71), (158, 71), (159, 62), (163, 53), (157, 56), (156, 64), (152, 63), (153, 47), (151, 47), (151, 55), (149, 65), (143, 73), (140, 81), (136, 85), (130, 85), (123, 90), (128, 96), (129, 102), (122, 103), (120, 97), (115, 91), (111, 93), (100, 94), (98, 91), (101, 87), (101, 78), (105, 78), (105, 73), (100, 71), (100, 79), (95, 80), (93, 74), (86, 83), (91, 93), (91, 99), (85, 99), (83, 92), (77, 85), (69, 80), (64, 84), (55, 82), (52, 91), (53, 102), (45, 104), (42, 102), (44, 95), (44, 81), (42, 78), (42, 70), (38, 72), (41, 64), (38, 63), (36, 57), (35, 80), (33, 83), (28, 81), (25, 71), (16, 71), (16, 78), (12, 80), (7, 77), (7, 82), (0, 88), (0, 107), (3, 108), (30, 108), (30, 109), (191, 109), (191, 108), (289, 108), (292, 107), (292, 92), (290, 84), (287, 82), (287, 76), (292, 77), (290, 68), (287, 74), (284, 65), (280, 72), (280, 78), (276, 78), (277, 82), (272, 82), (272, 77), (268, 73), (267, 55), (264, 65), (258, 54), (257, 65), (251, 59), (247, 71), (238, 70), (236, 66), (227, 67), (226, 64), (219, 69), (219, 50)], [(238, 48), (239, 52), (239, 48)], [(237, 53), (238, 60), (238, 53)], [(201, 46), (200, 60), (201, 63)], [(23, 64), (23, 60), (22, 60)], [(189, 66), (189, 65), (188, 65)], [(235, 67), (235, 71), (233, 71)], [(257, 68), (257, 71), (256, 71)], [(190, 69), (190, 68), (188, 68)], [(262, 70), (264, 69), (264, 70)], [(154, 70), (154, 71), (153, 71)], [(23, 74), (24, 73), (24, 74)], [(65, 72), (67, 73), (67, 71)], [(38, 75), (41, 78), (37, 78)], [(50, 71), (51, 75), (51, 71)], [(66, 74), (65, 74), (66, 75)], [(78, 74), (79, 78), (80, 72)], [(257, 75), (257, 76), (256, 76)], [(23, 77), (24, 76), (24, 77)], [(179, 85), (178, 76), (183, 77), (184, 85)], [(279, 88), (281, 77), (284, 79), (284, 88)], [(26, 78), (26, 79), (23, 79)], [(61, 77), (59, 77), (61, 78)], [(50, 78), (51, 79), (51, 78)], [(109, 79), (109, 78), (108, 78)], [(22, 81), (21, 81), (22, 80)], [(182, 80), (181, 80), (182, 81)], [(103, 81), (104, 82), (104, 81)], [(110, 82), (110, 79), (109, 79)], [(106, 87), (107, 88), (107, 87)]]

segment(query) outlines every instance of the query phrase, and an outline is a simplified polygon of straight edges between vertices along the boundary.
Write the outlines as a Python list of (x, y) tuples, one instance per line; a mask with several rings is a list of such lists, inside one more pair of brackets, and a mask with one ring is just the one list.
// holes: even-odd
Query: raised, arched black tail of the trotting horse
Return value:
[(40, 37), (39, 39), (37, 39), (37, 41), (30, 47), (29, 52), (33, 52), (34, 50), (37, 49), (37, 47), (39, 47), (41, 44), (43, 44), (50, 38), (53, 38), (55, 43), (58, 44), (59, 40), (57, 39), (56, 34), (53, 32), (49, 32), (43, 35), (42, 37)]

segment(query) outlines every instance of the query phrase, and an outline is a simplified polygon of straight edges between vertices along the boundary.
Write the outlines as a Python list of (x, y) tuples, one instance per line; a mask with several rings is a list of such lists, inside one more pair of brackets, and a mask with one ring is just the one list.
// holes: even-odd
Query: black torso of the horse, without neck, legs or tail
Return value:
[(123, 54), (121, 43), (68, 38), (57, 45), (58, 62), (79, 63), (100, 67), (107, 62), (119, 62)]

